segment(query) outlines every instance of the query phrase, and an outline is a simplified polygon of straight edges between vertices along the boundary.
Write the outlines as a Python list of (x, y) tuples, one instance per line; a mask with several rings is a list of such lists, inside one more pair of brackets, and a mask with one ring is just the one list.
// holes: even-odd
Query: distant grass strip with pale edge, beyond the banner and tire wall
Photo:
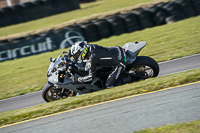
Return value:
[(1, 39), (16, 38), (60, 29), (87, 20), (104, 18), (113, 14), (130, 12), (155, 3), (170, 0), (102, 0), (81, 4), (81, 9), (0, 28)]

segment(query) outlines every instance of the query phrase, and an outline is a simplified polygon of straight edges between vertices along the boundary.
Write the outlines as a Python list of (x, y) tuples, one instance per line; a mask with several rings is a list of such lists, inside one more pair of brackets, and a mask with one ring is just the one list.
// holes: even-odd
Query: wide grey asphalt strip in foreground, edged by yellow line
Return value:
[(1, 133), (131, 133), (200, 119), (200, 82), (0, 128)]

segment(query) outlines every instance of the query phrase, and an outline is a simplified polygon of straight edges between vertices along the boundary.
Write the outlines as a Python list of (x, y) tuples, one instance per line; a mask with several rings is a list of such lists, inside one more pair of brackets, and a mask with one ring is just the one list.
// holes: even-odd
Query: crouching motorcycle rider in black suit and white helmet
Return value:
[(96, 76), (96, 66), (112, 66), (107, 81), (106, 87), (111, 88), (116, 85), (120, 73), (125, 70), (126, 53), (123, 48), (102, 47), (99, 45), (88, 45), (86, 41), (76, 42), (71, 47), (71, 56), (76, 61), (87, 60), (89, 74), (84, 77), (73, 77), (74, 83), (85, 83), (92, 81)]

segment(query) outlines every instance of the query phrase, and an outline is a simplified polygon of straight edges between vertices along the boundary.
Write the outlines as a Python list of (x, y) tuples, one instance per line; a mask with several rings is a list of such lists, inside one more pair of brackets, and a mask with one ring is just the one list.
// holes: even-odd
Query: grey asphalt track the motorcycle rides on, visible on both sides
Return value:
[[(200, 54), (183, 57), (175, 60), (170, 60), (166, 62), (161, 62), (159, 63), (159, 66), (160, 66), (159, 76), (164, 76), (199, 68)], [(13, 98), (8, 98), (0, 100), (0, 107), (1, 107), (0, 113), (15, 109), (27, 108), (42, 103), (45, 103), (45, 101), (42, 99), (41, 91)]]

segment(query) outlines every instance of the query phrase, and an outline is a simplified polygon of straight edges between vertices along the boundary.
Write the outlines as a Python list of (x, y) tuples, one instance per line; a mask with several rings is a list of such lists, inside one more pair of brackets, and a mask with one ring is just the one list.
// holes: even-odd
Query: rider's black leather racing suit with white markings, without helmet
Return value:
[(96, 66), (112, 66), (113, 69), (106, 81), (106, 87), (113, 87), (120, 73), (125, 69), (125, 52), (119, 47), (102, 47), (99, 45), (88, 46), (89, 74), (79, 77), (79, 82), (89, 82), (96, 76)]

